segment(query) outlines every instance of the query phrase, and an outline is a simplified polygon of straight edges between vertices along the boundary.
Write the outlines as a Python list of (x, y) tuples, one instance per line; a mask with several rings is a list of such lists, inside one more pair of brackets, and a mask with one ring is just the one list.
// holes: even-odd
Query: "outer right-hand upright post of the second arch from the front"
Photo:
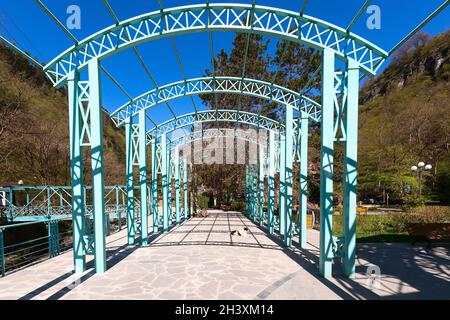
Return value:
[(299, 190), (299, 243), (306, 247), (307, 210), (308, 210), (308, 115), (301, 113), (300, 119), (300, 190)]

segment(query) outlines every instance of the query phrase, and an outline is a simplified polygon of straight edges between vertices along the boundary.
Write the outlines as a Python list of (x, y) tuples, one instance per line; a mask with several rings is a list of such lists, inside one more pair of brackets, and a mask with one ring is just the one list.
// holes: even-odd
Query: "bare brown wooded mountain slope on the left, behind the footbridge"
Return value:
[[(104, 116), (105, 183), (123, 184), (125, 138)], [(89, 156), (84, 148), (84, 158)], [(69, 185), (67, 95), (0, 45), (0, 183)], [(90, 184), (90, 162), (85, 162)]]

